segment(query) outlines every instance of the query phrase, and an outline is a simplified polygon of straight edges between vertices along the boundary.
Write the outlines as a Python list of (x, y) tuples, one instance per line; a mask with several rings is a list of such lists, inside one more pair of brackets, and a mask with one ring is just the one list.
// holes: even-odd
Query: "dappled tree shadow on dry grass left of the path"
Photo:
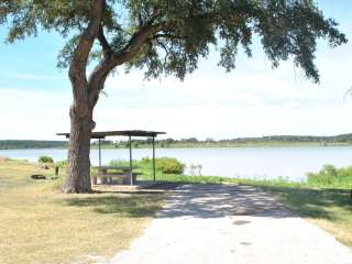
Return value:
[(116, 215), (122, 218), (152, 217), (161, 209), (161, 193), (105, 193), (87, 197), (74, 197), (65, 202), (72, 207), (91, 208), (98, 213)]

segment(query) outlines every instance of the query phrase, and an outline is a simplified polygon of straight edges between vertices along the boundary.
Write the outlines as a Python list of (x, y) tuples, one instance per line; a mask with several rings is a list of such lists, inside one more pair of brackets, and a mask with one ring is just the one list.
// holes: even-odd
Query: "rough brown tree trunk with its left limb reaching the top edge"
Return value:
[[(98, 87), (90, 87), (87, 80), (89, 54), (101, 25), (105, 0), (94, 0), (88, 26), (81, 32), (69, 65), (69, 80), (73, 87), (74, 105), (70, 107), (70, 134), (67, 176), (64, 191), (68, 194), (91, 193), (90, 183), (90, 138), (95, 128), (92, 110), (98, 100)], [(97, 82), (99, 85), (99, 81)], [(103, 84), (103, 81), (101, 82)], [(101, 86), (102, 88), (102, 86)]]

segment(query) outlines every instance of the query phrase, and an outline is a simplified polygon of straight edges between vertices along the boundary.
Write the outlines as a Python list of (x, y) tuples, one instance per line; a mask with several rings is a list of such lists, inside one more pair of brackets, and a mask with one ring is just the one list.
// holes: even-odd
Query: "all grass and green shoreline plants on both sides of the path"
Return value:
[[(50, 169), (43, 168), (44, 160)], [(111, 161), (116, 166), (125, 163)], [(141, 179), (152, 179), (150, 158), (134, 164), (140, 167)], [(59, 166), (58, 176), (54, 174), (55, 166)], [(0, 241), (11, 241), (0, 244), (1, 263), (72, 263), (77, 255), (89, 256), (85, 261), (91, 263), (109, 257), (129, 246), (163, 205), (166, 190), (160, 188), (117, 191), (113, 186), (99, 186), (95, 194), (64, 195), (61, 188), (65, 168), (65, 162), (52, 163), (44, 157), (40, 163), (0, 160)], [(156, 168), (161, 183), (240, 184), (266, 190), (297, 216), (352, 249), (352, 167), (326, 165), (301, 183), (182, 175), (183, 166), (174, 158), (157, 161)], [(46, 179), (32, 179), (31, 174)]]

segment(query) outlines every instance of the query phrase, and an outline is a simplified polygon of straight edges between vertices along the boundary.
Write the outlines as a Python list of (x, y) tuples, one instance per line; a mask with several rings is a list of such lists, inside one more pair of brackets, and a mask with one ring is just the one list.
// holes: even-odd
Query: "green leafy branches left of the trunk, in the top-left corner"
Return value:
[(91, 1), (82, 0), (4, 0), (0, 3), (0, 22), (10, 28), (9, 43), (35, 36), (37, 29), (55, 30), (67, 36), (86, 25), (90, 9)]

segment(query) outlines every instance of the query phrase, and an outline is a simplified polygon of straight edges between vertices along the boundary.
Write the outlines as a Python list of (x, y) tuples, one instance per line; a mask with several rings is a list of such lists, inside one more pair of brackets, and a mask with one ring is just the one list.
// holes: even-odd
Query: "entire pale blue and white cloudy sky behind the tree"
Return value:
[[(217, 66), (216, 52), (184, 81), (148, 81), (140, 70), (118, 68), (96, 107), (96, 131), (155, 130), (174, 139), (351, 133), (352, 98), (344, 95), (352, 87), (352, 1), (318, 4), (350, 40), (333, 50), (319, 41), (320, 84), (306, 79), (292, 62), (273, 69), (258, 43), (253, 57), (239, 54), (229, 74)], [(69, 131), (72, 88), (67, 70), (56, 68), (63, 43), (46, 32), (12, 45), (0, 43), (0, 140), (62, 140), (55, 134)]]

